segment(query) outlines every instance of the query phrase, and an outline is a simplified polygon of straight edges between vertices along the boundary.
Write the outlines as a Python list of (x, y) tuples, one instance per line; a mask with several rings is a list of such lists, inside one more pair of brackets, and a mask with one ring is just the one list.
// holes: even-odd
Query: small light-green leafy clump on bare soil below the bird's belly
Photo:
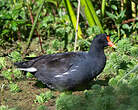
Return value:
[(52, 98), (54, 98), (53, 92), (52, 91), (47, 91), (45, 93), (41, 93), (40, 95), (36, 95), (35, 102), (45, 103), (45, 102), (49, 101)]

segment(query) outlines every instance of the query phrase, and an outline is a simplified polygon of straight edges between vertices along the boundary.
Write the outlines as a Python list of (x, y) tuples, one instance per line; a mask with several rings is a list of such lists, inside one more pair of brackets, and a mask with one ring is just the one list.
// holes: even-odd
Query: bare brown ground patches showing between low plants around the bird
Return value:
[[(36, 46), (38, 46), (38, 44), (34, 43), (34, 45), (30, 47), (30, 52), (35, 51), (35, 53), (38, 52), (37, 55), (39, 55), (40, 50), (34, 50), (37, 48)], [(13, 48), (10, 48), (10, 47), (13, 47)], [(16, 47), (16, 45), (8, 46), (6, 51), (2, 48), (0, 50), (0, 56), (7, 57), (9, 53), (15, 50), (14, 47)], [(9, 62), (9, 64), (10, 63), (11, 62)], [(12, 66), (13, 64), (10, 64), (10, 65)], [(8, 65), (9, 68), (11, 67), (10, 65)], [(46, 105), (49, 108), (49, 110), (56, 110), (55, 101), (61, 92), (53, 91), (55, 98), (50, 99), (46, 103), (39, 104), (38, 102), (35, 102), (36, 95), (40, 95), (40, 93), (49, 91), (49, 89), (46, 88), (45, 85), (42, 85), (41, 83), (41, 86), (40, 86), (40, 84), (38, 84), (39, 82), (37, 81), (35, 77), (33, 78), (24, 77), (21, 79), (15, 79), (13, 82), (19, 86), (19, 88), (21, 89), (20, 92), (12, 93), (8, 87), (8, 85), (10, 84), (10, 81), (4, 78), (2, 74), (0, 73), (0, 86), (1, 86), (0, 87), (0, 106), (5, 105), (5, 106), (8, 106), (9, 108), (19, 107), (20, 108), (19, 110), (36, 110), (38, 106)], [(97, 80), (96, 82), (92, 82), (92, 84), (98, 83), (102, 85), (107, 85), (107, 82), (108, 82), (108, 78), (107, 79), (102, 78), (100, 80)], [(82, 92), (83, 91), (73, 91), (73, 94), (81, 95)]]

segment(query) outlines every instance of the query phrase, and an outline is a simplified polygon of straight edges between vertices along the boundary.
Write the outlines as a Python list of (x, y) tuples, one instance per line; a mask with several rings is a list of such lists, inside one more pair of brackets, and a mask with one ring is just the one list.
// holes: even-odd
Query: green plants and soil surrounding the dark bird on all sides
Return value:
[(137, 0), (80, 0), (75, 50), (88, 51), (107, 33), (117, 49), (80, 91), (51, 91), (13, 63), (25, 57), (74, 50), (78, 0), (0, 0), (0, 110), (137, 110)]

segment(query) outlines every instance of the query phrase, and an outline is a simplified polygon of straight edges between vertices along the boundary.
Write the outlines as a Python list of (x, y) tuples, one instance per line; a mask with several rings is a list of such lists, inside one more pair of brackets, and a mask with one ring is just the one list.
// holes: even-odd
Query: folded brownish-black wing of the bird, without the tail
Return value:
[[(53, 54), (53, 55), (46, 55), (42, 57), (40, 60), (38, 60), (33, 65), (35, 67), (38, 67), (40, 65), (43, 65), (43, 68), (49, 73), (54, 72), (54, 74), (60, 74), (65, 73), (70, 69), (70, 67), (79, 62), (81, 58), (80, 53), (59, 53), (59, 54)], [(32, 66), (33, 66), (32, 65)]]

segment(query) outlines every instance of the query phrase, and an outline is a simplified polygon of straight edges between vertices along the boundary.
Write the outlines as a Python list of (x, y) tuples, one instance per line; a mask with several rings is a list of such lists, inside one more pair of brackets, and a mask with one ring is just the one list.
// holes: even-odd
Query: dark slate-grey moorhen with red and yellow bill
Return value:
[(46, 54), (15, 62), (22, 71), (32, 73), (48, 88), (59, 91), (72, 90), (97, 77), (106, 65), (104, 48), (115, 48), (107, 34), (94, 37), (89, 51)]

